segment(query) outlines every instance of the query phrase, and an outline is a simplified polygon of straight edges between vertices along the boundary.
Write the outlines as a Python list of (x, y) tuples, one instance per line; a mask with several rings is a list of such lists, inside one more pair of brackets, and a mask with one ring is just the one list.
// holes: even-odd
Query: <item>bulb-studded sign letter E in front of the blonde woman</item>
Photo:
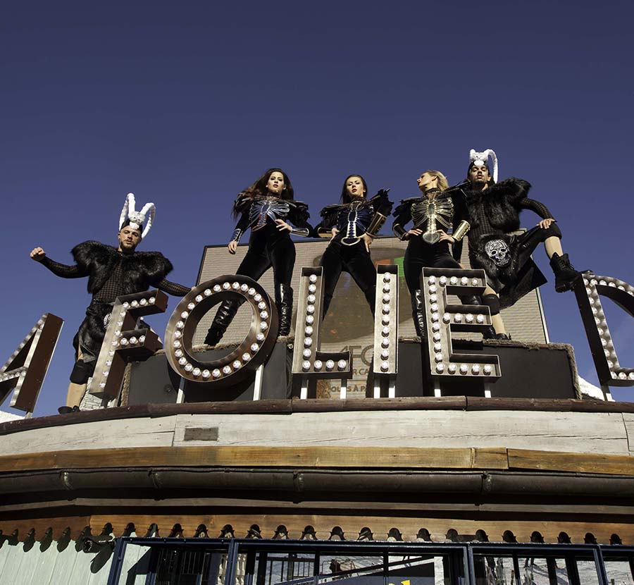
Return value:
[(483, 270), (423, 268), (421, 289), (432, 376), (491, 379), (501, 375), (497, 355), (464, 354), (452, 348), (452, 331), (484, 331), (491, 325), (491, 316), (484, 305), (448, 304), (447, 294), (481, 295), (486, 284)]

